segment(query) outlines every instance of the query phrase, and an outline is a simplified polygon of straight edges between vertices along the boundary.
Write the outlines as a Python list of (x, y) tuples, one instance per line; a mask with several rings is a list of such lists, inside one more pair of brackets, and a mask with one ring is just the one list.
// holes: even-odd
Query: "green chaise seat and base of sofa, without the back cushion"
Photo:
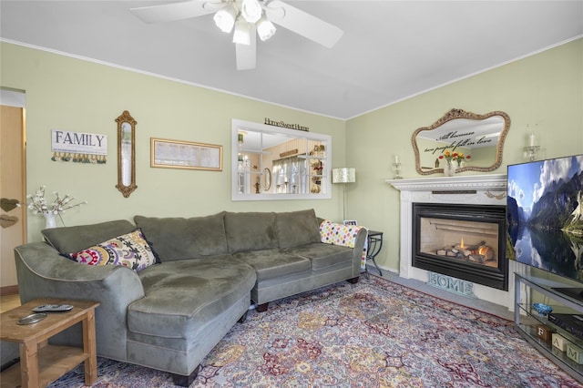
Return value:
[(246, 315), (255, 284), (251, 267), (230, 255), (162, 261), (138, 274), (145, 296), (128, 306), (128, 360), (182, 376)]

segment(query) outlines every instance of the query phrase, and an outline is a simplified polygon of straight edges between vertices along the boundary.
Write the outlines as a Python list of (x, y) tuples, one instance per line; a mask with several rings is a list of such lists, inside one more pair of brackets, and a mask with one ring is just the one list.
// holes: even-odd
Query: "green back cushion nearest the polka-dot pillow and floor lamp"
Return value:
[(275, 214), (275, 230), (280, 248), (320, 242), (320, 222), (313, 209)]

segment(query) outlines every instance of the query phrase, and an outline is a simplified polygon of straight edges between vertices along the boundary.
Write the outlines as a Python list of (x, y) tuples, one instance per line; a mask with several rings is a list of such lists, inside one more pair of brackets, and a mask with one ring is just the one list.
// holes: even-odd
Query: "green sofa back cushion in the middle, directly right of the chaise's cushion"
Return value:
[(225, 213), (225, 230), (229, 252), (270, 250), (277, 248), (275, 213)]

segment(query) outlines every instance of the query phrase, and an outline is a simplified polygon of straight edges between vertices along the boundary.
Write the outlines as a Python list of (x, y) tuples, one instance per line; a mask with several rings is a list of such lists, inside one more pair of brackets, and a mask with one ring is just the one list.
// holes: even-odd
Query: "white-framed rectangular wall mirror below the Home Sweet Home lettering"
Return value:
[(231, 138), (232, 200), (332, 198), (332, 137), (233, 119)]

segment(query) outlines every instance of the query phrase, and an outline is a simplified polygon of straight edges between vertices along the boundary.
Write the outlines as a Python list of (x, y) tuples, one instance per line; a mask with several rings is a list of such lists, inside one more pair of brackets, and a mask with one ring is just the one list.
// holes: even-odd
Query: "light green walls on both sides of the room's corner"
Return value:
[[(583, 153), (583, 39), (496, 67), (422, 95), (343, 121), (235, 97), (128, 70), (2, 43), (0, 86), (26, 91), (28, 192), (45, 184), (88, 204), (65, 213), (66, 225), (150, 216), (197, 216), (232, 211), (314, 208), (341, 220), (343, 191), (332, 199), (231, 202), (230, 119), (262, 123), (264, 117), (298, 123), (332, 136), (332, 167), (356, 168), (346, 185), (346, 217), (384, 231), (377, 262), (399, 267), (399, 192), (391, 179), (398, 154), (404, 178), (414, 168), (411, 135), (451, 108), (475, 113), (503, 110), (511, 118), (503, 163), (523, 162), (527, 125), (537, 125), (543, 158)], [(116, 123), (128, 110), (138, 121), (138, 189), (124, 199), (117, 184)], [(50, 160), (53, 128), (105, 134), (106, 165)], [(149, 167), (149, 138), (174, 138), (223, 146), (223, 171)], [(349, 144), (350, 146), (346, 146)], [(472, 172), (469, 172), (471, 174)], [(466, 173), (467, 174), (467, 173)], [(29, 240), (39, 240), (44, 223), (29, 217)]]

